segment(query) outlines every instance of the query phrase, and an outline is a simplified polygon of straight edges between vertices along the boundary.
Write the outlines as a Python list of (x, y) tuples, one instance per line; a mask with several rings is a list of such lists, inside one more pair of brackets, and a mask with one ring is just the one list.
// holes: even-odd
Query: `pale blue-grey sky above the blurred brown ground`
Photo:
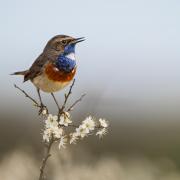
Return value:
[(86, 37), (76, 48), (75, 93), (95, 93), (127, 112), (158, 108), (179, 116), (179, 9), (178, 0), (1, 1), (1, 102), (19, 100), (14, 83), (33, 90), (9, 74), (28, 68), (50, 38), (67, 34)]

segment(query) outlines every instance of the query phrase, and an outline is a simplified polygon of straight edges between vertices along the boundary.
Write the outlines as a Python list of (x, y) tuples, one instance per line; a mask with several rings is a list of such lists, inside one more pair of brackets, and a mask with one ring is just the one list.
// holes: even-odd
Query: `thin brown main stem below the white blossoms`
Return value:
[(50, 151), (51, 151), (51, 147), (53, 145), (53, 142), (54, 142), (54, 140), (51, 139), (49, 144), (47, 145), (47, 150), (46, 150), (45, 156), (44, 156), (44, 158), (42, 160), (42, 165), (40, 167), (39, 180), (43, 180), (44, 179), (44, 169), (46, 167), (48, 158), (51, 156)]

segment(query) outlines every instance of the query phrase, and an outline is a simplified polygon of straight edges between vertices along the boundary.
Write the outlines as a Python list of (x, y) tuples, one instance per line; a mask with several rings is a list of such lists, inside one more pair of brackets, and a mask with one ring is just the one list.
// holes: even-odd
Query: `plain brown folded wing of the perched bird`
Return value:
[[(46, 54), (42, 53), (32, 64), (26, 75), (24, 76), (24, 81), (33, 80), (36, 76), (39, 76), (44, 69), (44, 66), (49, 62), (53, 62), (54, 58), (48, 57)], [(56, 58), (55, 58), (56, 59)]]

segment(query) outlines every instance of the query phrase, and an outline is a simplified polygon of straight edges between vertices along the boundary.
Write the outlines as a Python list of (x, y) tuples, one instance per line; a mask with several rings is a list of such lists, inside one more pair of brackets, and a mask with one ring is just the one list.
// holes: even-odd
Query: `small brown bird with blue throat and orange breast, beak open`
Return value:
[(24, 82), (30, 80), (35, 85), (41, 105), (40, 112), (45, 108), (40, 90), (51, 93), (58, 106), (53, 93), (66, 87), (74, 78), (77, 68), (75, 46), (84, 40), (84, 37), (57, 35), (47, 42), (43, 52), (28, 70), (12, 74), (23, 75)]

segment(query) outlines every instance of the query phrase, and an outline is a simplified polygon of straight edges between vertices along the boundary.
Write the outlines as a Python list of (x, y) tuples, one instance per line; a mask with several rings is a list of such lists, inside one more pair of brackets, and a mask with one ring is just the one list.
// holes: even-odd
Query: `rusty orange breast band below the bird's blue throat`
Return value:
[(65, 72), (56, 68), (53, 64), (49, 63), (45, 67), (45, 74), (48, 76), (50, 80), (59, 81), (59, 82), (67, 82), (71, 81), (76, 73), (76, 68), (74, 68), (71, 72)]

